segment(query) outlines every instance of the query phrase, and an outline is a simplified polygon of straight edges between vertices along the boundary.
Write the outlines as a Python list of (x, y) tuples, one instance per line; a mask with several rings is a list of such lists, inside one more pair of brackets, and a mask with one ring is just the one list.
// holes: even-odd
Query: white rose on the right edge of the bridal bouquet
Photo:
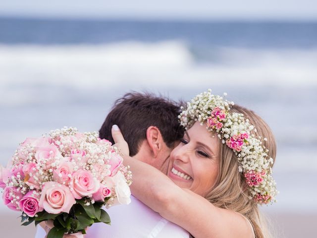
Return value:
[[(119, 171), (115, 176), (112, 177), (114, 180), (114, 190), (117, 196), (117, 202), (120, 204), (129, 204), (131, 202), (130, 187), (127, 184), (127, 180), (124, 175)], [(116, 203), (116, 201), (114, 202)], [(114, 204), (113, 204), (114, 205)]]

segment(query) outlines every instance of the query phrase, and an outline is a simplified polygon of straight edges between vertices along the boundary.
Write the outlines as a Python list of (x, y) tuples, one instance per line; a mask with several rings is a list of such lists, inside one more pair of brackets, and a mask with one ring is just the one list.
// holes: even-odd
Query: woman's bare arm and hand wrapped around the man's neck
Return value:
[[(116, 146), (127, 153), (121, 132), (112, 129), (112, 137)], [(202, 196), (180, 188), (146, 163), (124, 156), (124, 164), (129, 165), (132, 172), (133, 195), (195, 238), (253, 237), (250, 224), (241, 214), (213, 206)]]

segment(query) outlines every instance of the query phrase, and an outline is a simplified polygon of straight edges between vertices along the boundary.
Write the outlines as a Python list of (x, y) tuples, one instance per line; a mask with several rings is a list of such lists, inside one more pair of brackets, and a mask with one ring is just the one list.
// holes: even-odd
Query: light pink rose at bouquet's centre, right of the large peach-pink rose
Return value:
[(95, 192), (98, 191), (100, 183), (93, 177), (90, 171), (77, 170), (72, 174), (72, 179), (69, 181), (71, 192), (74, 194), (76, 199), (82, 197), (91, 197)]

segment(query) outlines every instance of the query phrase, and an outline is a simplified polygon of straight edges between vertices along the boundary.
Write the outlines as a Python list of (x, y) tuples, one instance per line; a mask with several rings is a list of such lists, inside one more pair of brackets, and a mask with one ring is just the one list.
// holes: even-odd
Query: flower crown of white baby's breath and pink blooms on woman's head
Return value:
[(245, 119), (243, 114), (230, 112), (233, 105), (233, 102), (212, 95), (209, 89), (188, 102), (186, 110), (178, 118), (186, 130), (196, 121), (202, 125), (207, 122), (208, 131), (215, 131), (222, 143), (236, 154), (238, 171), (244, 175), (252, 195), (249, 198), (260, 204), (272, 203), (278, 193), (271, 176), (273, 159), (268, 158), (268, 149), (262, 145), (262, 138), (252, 133), (257, 130), (249, 119)]

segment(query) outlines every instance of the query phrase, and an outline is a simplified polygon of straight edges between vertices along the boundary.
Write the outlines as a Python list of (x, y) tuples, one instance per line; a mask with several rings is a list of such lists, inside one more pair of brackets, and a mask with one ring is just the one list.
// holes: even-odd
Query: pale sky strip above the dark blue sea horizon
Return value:
[(0, 15), (317, 20), (317, 0), (0, 0)]

